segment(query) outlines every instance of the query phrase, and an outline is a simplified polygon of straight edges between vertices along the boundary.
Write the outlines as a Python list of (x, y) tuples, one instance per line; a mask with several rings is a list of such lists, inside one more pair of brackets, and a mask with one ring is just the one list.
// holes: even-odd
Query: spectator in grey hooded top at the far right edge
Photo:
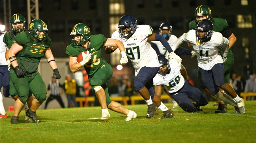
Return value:
[[(245, 92), (256, 92), (256, 83), (255, 83), (255, 76), (253, 75), (253, 72), (250, 72), (249, 79), (247, 79), (244, 91)], [(253, 100), (254, 97), (247, 97), (247, 100)]]

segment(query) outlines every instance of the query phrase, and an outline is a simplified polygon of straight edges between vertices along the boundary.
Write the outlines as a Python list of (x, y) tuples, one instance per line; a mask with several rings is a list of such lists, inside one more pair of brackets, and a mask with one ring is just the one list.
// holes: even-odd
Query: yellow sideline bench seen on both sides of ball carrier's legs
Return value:
[[(79, 102), (79, 107), (83, 107), (83, 102), (86, 101), (86, 98), (88, 98), (88, 102), (94, 102), (95, 97), (89, 96), (89, 97), (76, 97), (76, 101)], [(129, 100), (128, 96), (117, 96), (117, 97), (110, 97), (112, 101), (123, 101), (123, 105), (127, 105), (127, 101)]]

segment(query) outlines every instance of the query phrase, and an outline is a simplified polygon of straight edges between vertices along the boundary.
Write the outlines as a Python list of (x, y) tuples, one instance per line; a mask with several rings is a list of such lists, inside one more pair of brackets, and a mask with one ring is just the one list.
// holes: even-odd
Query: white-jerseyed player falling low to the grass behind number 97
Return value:
[[(203, 111), (200, 106), (208, 104), (207, 99), (203, 96), (202, 92), (191, 85), (187, 80), (184, 80), (183, 70), (181, 63), (176, 63), (165, 58), (164, 55), (158, 55), (160, 69), (154, 77), (154, 91), (155, 95), (162, 94), (162, 85), (165, 87), (165, 92), (171, 96), (186, 112), (199, 112)], [(192, 103), (190, 98), (196, 103)]]

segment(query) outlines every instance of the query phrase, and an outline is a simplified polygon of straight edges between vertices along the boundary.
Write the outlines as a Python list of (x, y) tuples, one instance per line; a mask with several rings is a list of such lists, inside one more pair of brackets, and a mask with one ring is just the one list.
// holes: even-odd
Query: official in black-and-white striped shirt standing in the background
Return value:
[(63, 101), (61, 99), (61, 96), (62, 96), (61, 84), (54, 77), (51, 77), (51, 81), (50, 81), (50, 83), (48, 85), (47, 92), (49, 90), (51, 91), (51, 94), (48, 97), (48, 99), (46, 100), (44, 109), (46, 109), (48, 103), (50, 101), (52, 101), (53, 99), (56, 99), (59, 102), (59, 104), (61, 105), (61, 107), (65, 108), (64, 103), (63, 103)]

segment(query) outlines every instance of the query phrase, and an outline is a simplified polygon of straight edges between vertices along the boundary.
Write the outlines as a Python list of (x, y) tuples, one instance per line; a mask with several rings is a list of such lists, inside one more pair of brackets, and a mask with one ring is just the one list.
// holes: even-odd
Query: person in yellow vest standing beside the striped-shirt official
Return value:
[(64, 84), (65, 93), (68, 100), (68, 107), (71, 107), (71, 101), (73, 101), (73, 104), (75, 107), (77, 107), (77, 101), (76, 101), (76, 92), (77, 92), (77, 85), (76, 80), (72, 79), (70, 74), (66, 75), (66, 80)]

